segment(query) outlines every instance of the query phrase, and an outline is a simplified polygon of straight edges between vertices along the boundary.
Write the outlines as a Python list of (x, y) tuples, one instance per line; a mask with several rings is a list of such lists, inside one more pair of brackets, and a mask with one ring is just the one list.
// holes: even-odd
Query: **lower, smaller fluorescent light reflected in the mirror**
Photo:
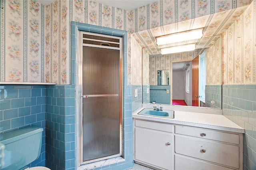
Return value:
[(161, 48), (161, 54), (181, 53), (185, 51), (193, 51), (196, 49), (196, 43), (187, 45), (178, 45), (173, 47)]

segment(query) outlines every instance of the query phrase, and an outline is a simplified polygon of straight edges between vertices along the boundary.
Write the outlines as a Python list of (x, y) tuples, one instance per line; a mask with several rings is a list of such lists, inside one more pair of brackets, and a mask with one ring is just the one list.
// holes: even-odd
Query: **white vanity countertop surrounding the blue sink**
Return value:
[[(142, 108), (144, 109), (144, 108)], [(135, 119), (144, 119), (148, 121), (157, 121), (163, 123), (172, 123), (178, 125), (187, 125), (193, 127), (210, 128), (216, 130), (225, 130), (229, 132), (244, 133), (244, 129), (236, 123), (230, 121), (228, 118), (219, 114), (196, 113), (188, 111), (174, 110), (174, 119), (138, 115), (142, 109), (136, 111), (132, 117)]]

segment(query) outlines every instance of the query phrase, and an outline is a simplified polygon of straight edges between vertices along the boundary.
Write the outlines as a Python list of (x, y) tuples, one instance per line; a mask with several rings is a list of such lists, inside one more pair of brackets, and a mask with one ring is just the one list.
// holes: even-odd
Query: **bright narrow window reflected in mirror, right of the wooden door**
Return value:
[(205, 103), (205, 85), (206, 85), (206, 50), (200, 55), (199, 62), (199, 99)]

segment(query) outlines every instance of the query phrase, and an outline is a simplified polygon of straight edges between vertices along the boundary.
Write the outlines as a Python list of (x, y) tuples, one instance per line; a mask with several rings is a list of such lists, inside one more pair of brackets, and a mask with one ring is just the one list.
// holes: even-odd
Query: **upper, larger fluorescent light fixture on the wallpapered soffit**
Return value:
[(168, 44), (168, 43), (196, 40), (196, 39), (202, 38), (202, 36), (203, 36), (203, 28), (200, 28), (197, 30), (191, 30), (191, 31), (156, 37), (156, 44), (163, 45), (163, 44)]

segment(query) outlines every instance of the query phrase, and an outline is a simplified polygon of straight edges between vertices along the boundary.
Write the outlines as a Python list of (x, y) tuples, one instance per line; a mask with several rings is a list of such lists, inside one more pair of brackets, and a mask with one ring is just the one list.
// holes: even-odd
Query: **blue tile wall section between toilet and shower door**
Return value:
[(46, 167), (75, 169), (75, 87), (46, 86)]

